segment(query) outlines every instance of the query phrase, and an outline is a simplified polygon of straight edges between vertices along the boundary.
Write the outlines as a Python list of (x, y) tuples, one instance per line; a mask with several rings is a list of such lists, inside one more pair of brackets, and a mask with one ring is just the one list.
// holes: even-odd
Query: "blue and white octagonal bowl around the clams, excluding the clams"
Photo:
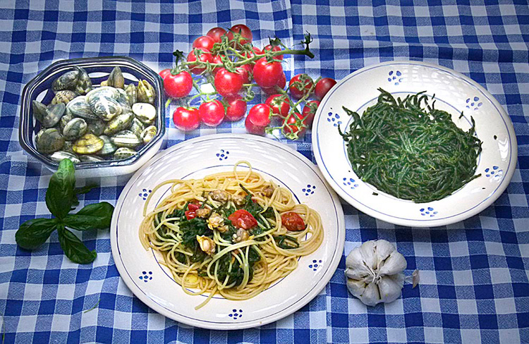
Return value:
[(51, 161), (44, 154), (37, 152), (35, 136), (39, 132), (41, 125), (33, 117), (32, 101), (37, 100), (44, 104), (49, 104), (54, 97), (51, 83), (63, 73), (71, 70), (73, 66), (85, 68), (95, 87), (99, 86), (103, 80), (107, 80), (111, 70), (116, 66), (121, 68), (126, 84), (131, 82), (138, 83), (138, 80), (147, 80), (154, 87), (156, 92), (154, 107), (157, 109), (157, 135), (154, 139), (141, 147), (138, 150), (138, 154), (130, 156), (128, 159), (75, 164), (75, 174), (80, 177), (118, 176), (133, 173), (149, 161), (162, 147), (162, 139), (165, 135), (165, 99), (162, 78), (143, 63), (126, 56), (102, 56), (57, 61), (51, 63), (42, 73), (32, 78), (28, 85), (25, 85), (22, 93), (20, 127), (18, 131), (20, 145), (28, 154), (34, 156), (51, 171), (57, 170), (59, 163)]

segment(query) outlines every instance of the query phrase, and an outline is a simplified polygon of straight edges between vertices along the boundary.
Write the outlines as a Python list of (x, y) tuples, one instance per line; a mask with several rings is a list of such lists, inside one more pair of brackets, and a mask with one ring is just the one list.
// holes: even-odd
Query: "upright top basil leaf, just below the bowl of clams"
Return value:
[(51, 176), (46, 192), (46, 205), (58, 219), (70, 212), (75, 189), (75, 169), (70, 159), (63, 159), (59, 169)]

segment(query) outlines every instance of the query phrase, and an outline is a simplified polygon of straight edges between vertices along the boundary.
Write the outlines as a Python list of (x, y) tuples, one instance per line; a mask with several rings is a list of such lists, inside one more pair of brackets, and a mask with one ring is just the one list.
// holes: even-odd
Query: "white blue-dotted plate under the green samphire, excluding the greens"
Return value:
[[(470, 128), (472, 116), (476, 135), (483, 142), (477, 168), (482, 176), (444, 199), (421, 204), (397, 199), (363, 183), (351, 168), (337, 126), (348, 129), (351, 121), (342, 106), (361, 116), (377, 102), (379, 87), (401, 98), (421, 91), (435, 94), (436, 109), (451, 113), (463, 130)], [(464, 117), (459, 119), (461, 111)], [(478, 214), (504, 192), (518, 156), (511, 119), (487, 90), (449, 68), (414, 61), (368, 66), (336, 84), (317, 110), (312, 149), (329, 185), (346, 202), (377, 219), (414, 227), (444, 226)]]

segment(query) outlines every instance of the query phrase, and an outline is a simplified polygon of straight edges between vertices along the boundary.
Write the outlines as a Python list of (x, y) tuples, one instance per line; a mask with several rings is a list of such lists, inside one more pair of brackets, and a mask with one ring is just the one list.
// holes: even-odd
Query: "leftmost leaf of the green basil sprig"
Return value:
[(18, 246), (26, 250), (33, 250), (48, 240), (49, 235), (55, 231), (56, 219), (32, 219), (20, 225), (15, 233)]

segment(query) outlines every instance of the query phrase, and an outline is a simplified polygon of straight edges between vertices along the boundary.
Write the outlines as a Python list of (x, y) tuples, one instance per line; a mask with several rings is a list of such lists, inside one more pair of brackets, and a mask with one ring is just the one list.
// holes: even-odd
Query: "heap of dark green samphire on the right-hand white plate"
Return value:
[(358, 177), (389, 195), (423, 203), (480, 176), (475, 170), (482, 142), (473, 118), (465, 132), (450, 113), (434, 109), (425, 92), (395, 99), (379, 91), (377, 104), (361, 117), (343, 107), (353, 121), (345, 133), (339, 130)]

